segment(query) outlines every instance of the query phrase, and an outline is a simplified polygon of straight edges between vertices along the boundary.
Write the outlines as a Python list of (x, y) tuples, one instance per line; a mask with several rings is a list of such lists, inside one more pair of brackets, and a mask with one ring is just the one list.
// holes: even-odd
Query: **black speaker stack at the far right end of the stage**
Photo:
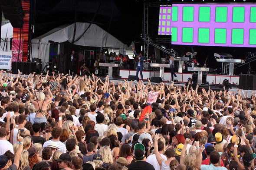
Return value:
[(246, 90), (256, 90), (256, 75), (240, 74), (239, 88)]

